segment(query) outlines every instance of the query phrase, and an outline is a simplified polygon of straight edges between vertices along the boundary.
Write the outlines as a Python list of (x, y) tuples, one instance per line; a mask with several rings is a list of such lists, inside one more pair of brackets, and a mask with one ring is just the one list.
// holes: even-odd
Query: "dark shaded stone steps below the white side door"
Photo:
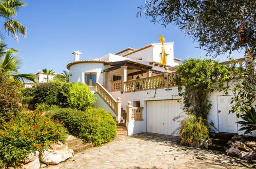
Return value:
[(212, 133), (212, 143), (208, 145), (208, 149), (225, 152), (228, 149), (228, 140), (231, 140), (234, 135), (232, 133)]

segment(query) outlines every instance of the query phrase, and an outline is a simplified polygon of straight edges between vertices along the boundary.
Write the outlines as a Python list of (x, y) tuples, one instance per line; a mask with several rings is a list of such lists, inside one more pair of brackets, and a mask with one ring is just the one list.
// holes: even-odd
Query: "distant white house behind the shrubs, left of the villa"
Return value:
[[(56, 75), (58, 74), (54, 73), (53, 75), (49, 75), (49, 80), (52, 80), (53, 77), (55, 77)], [(47, 74), (45, 74), (41, 70), (38, 70), (37, 73), (35, 74), (35, 80), (37, 83), (44, 83), (47, 81)], [(35, 86), (35, 82), (33, 81), (25, 81), (23, 83), (24, 88), (32, 88), (33, 86)]]

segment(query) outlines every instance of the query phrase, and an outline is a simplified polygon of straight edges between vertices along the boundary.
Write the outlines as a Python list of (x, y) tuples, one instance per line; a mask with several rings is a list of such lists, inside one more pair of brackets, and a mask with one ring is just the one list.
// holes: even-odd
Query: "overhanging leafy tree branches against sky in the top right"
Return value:
[(186, 35), (199, 41), (199, 47), (208, 54), (217, 56), (250, 48), (255, 58), (254, 1), (148, 0), (145, 3), (141, 10), (152, 18), (151, 22), (178, 25)]

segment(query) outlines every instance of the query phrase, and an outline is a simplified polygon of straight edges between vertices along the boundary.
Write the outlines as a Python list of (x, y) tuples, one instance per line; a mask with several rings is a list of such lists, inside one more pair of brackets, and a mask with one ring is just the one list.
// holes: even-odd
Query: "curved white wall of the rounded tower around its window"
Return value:
[(72, 65), (69, 69), (69, 81), (70, 82), (82, 82), (85, 83), (85, 73), (94, 72), (97, 73), (96, 82), (103, 84), (103, 70), (106, 67), (101, 62), (85, 62)]

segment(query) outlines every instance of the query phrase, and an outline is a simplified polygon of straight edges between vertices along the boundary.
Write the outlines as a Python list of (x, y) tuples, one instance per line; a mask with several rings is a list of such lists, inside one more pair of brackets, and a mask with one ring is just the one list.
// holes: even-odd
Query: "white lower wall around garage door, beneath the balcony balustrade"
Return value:
[[(182, 99), (182, 97), (178, 96), (178, 87), (169, 88), (171, 90), (165, 89), (157, 89), (156, 95), (154, 97), (154, 90), (149, 91), (136, 91), (130, 93), (123, 93), (121, 94), (120, 91), (110, 92), (110, 94), (114, 97), (120, 97), (122, 101), (122, 108), (126, 110), (126, 106), (128, 105), (128, 101), (140, 101), (141, 107), (143, 107), (143, 119), (144, 121), (135, 121), (129, 122), (129, 135), (147, 132), (147, 101), (148, 100), (168, 100), (168, 99)], [(217, 96), (223, 96), (223, 92), (213, 92), (209, 100), (211, 101), (211, 110), (208, 114), (208, 120), (212, 121), (215, 128), (219, 129), (219, 122), (218, 122), (218, 105), (217, 105)], [(228, 95), (232, 95), (232, 91), (228, 91)], [(134, 105), (133, 105), (134, 106)], [(182, 106), (182, 105), (181, 105)], [(241, 118), (238, 121), (242, 120)], [(238, 129), (241, 128), (241, 125), (238, 125)], [(212, 131), (213, 132), (213, 131)], [(214, 131), (218, 133), (218, 130)], [(239, 131), (238, 134), (243, 134), (243, 131)], [(250, 135), (250, 134), (247, 134)], [(252, 133), (252, 136), (256, 136), (256, 131)]]

